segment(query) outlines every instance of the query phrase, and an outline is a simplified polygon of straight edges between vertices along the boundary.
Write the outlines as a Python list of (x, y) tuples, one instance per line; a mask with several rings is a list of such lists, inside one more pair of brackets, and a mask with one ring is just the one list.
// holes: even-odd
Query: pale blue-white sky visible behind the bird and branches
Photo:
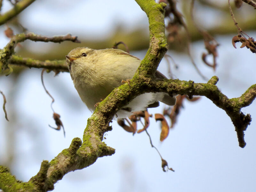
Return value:
[[(4, 1), (4, 10), (8, 9), (6, 4)], [(138, 26), (148, 27), (146, 14), (133, 0), (109, 0), (108, 3), (102, 0), (97, 3), (73, 0), (72, 4), (60, 0), (36, 1), (22, 13), (21, 19), (35, 33), (48, 36), (86, 34), (92, 39), (110, 36), (119, 23), (125, 23), (127, 30)], [(5, 27), (1, 26), (1, 48), (9, 41), (4, 37), (4, 30)], [(249, 31), (247, 34), (256, 36), (255, 32)], [(220, 46), (217, 59), (219, 65), (215, 73), (201, 62), (203, 42), (192, 45), (198, 67), (209, 79), (213, 75), (218, 76), (220, 80), (217, 86), (229, 98), (239, 97), (256, 82), (255, 54), (246, 48), (234, 49), (231, 38), (216, 37)], [(39, 49), (36, 44), (31, 44), (31, 49)], [(145, 52), (132, 54), (142, 59)], [(179, 65), (178, 69), (172, 66), (176, 78), (205, 83), (188, 56), (173, 51), (169, 54)], [(158, 70), (168, 75), (166, 66), (163, 60)], [(12, 151), (11, 172), (23, 181), (28, 181), (39, 171), (43, 160), (51, 161), (61, 150), (68, 148), (74, 137), (82, 138), (87, 119), (91, 116), (80, 100), (69, 73), (53, 77), (52, 72), (44, 75), (44, 83), (55, 98), (53, 107), (61, 115), (66, 138), (62, 131), (49, 128), (48, 124), (54, 126), (51, 98), (44, 92), (40, 74), (41, 69), (27, 70), (19, 76), (15, 86), (12, 75), (0, 77), (0, 90), (7, 98), (7, 112), (12, 114), (11, 111), (16, 111), (15, 116), (9, 116), (10, 122), (6, 122), (0, 110), (0, 164), (6, 163), (6, 154)], [(15, 102), (8, 102), (12, 100), (10, 97), (14, 90)], [(154, 123), (154, 118), (151, 118), (148, 132), (175, 172), (162, 171), (161, 159), (156, 150), (151, 148), (145, 132), (132, 136), (113, 121), (113, 131), (107, 132), (104, 141), (116, 149), (116, 154), (99, 158), (83, 170), (68, 173), (54, 185), (54, 191), (253, 192), (256, 185), (255, 107), (254, 102), (242, 110), (252, 115), (251, 125), (245, 131), (247, 145), (243, 149), (238, 146), (230, 118), (207, 98), (202, 97), (194, 103), (184, 102), (178, 123), (164, 142), (159, 141), (160, 124)], [(149, 112), (161, 113), (163, 108), (164, 105), (161, 105)], [(12, 119), (15, 119), (15, 123), (12, 123)], [(6, 134), (11, 135), (13, 140), (6, 140), (10, 138)]]

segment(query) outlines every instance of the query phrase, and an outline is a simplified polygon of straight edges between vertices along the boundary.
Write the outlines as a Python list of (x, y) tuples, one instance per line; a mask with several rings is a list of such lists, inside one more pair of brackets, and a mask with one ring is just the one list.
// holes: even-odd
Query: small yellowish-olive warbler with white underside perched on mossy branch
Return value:
[[(122, 80), (132, 79), (140, 65), (140, 59), (119, 49), (94, 50), (77, 47), (66, 56), (66, 63), (75, 88), (85, 105), (94, 111), (96, 103), (105, 99), (110, 92), (122, 84)], [(166, 78), (156, 71), (156, 78)], [(143, 93), (119, 110), (117, 118), (125, 118), (146, 108), (158, 107), (161, 101), (175, 105), (176, 98), (164, 92)]]

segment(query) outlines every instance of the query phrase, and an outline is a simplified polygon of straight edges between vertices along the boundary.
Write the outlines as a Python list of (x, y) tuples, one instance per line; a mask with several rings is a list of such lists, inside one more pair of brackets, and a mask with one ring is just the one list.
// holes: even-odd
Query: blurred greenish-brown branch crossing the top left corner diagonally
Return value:
[[(3, 15), (0, 16), (0, 26), (3, 25), (6, 21), (12, 19), (24, 9), (26, 9), (30, 4), (32, 4), (35, 0), (21, 0), (17, 4), (13, 6), (13, 8), (5, 12)], [(1, 1), (2, 5), (2, 1)]]

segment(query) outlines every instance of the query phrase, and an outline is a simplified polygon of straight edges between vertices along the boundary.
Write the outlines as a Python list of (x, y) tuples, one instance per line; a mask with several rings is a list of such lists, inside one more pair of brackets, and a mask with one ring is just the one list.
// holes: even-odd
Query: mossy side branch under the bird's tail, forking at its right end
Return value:
[(220, 92), (215, 85), (218, 77), (213, 76), (208, 83), (194, 83), (193, 81), (162, 80), (148, 84), (147, 90), (152, 92), (168, 92), (186, 94), (188, 96), (205, 96), (212, 102), (222, 108), (232, 120), (237, 132), (239, 146), (244, 148), (244, 131), (251, 122), (250, 114), (244, 115), (241, 108), (249, 106), (256, 97), (256, 84), (252, 85), (241, 97), (228, 99), (226, 95)]

